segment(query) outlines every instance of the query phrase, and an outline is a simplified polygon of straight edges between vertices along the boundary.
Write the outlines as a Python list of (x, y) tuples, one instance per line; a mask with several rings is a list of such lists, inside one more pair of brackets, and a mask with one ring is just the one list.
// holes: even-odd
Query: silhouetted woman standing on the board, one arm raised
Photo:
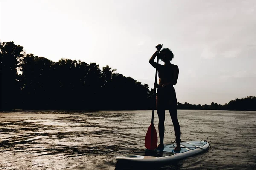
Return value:
[[(157, 49), (160, 51), (162, 48), (161, 44), (157, 45)], [(159, 84), (155, 83), (154, 87), (157, 88), (157, 115), (158, 115), (158, 130), (160, 144), (157, 149), (163, 149), (163, 138), (164, 138), (164, 120), (165, 120), (165, 110), (168, 109), (172, 118), (172, 123), (174, 126), (174, 132), (176, 136), (176, 144), (174, 151), (180, 151), (180, 124), (178, 122), (177, 116), (177, 99), (176, 93), (173, 85), (176, 85), (179, 75), (179, 68), (177, 65), (171, 64), (173, 59), (173, 53), (168, 48), (164, 48), (160, 51), (159, 59), (164, 62), (164, 65), (157, 64), (154, 59), (157, 56), (157, 51), (149, 59), (149, 63), (157, 68), (159, 73)]]

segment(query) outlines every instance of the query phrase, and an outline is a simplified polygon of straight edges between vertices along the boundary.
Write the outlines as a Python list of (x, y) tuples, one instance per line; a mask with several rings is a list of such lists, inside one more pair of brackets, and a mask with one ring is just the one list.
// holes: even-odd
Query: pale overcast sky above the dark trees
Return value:
[(181, 103), (256, 96), (255, 30), (256, 0), (0, 0), (1, 42), (109, 65), (151, 88), (148, 60), (163, 44), (180, 70)]

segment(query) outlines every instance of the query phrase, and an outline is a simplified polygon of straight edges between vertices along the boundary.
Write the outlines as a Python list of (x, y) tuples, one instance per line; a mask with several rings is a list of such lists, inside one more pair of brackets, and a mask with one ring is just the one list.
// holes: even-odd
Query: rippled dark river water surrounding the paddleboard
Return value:
[[(256, 170), (256, 111), (179, 110), (182, 140), (209, 137), (208, 152), (163, 165), (116, 162), (145, 148), (151, 112), (0, 112), (0, 170)], [(165, 129), (170, 144), (167, 111)]]

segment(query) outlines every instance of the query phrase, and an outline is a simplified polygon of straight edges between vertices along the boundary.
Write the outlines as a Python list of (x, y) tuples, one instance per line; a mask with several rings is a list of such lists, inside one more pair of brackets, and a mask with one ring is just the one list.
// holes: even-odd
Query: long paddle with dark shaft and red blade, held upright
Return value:
[[(159, 59), (159, 50), (157, 49), (157, 64)], [(156, 75), (155, 75), (155, 83), (157, 83), (157, 69), (156, 69)], [(157, 88), (154, 88), (154, 104), (156, 103), (156, 90)], [(149, 150), (154, 150), (157, 148), (157, 130), (154, 127), (154, 108), (152, 110), (152, 118), (151, 118), (151, 124), (148, 127), (148, 131), (146, 133), (145, 137), (145, 147)]]

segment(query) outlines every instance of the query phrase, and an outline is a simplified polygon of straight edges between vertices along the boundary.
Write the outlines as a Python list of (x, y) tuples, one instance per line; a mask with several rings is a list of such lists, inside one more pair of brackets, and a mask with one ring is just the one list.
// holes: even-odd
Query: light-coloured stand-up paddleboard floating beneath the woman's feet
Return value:
[(117, 161), (131, 161), (141, 163), (162, 163), (166, 161), (175, 161), (184, 159), (189, 156), (194, 156), (198, 153), (209, 149), (207, 141), (189, 141), (180, 144), (181, 150), (179, 153), (174, 152), (176, 144), (166, 144), (163, 150), (142, 150), (134, 153), (128, 153), (117, 156)]

